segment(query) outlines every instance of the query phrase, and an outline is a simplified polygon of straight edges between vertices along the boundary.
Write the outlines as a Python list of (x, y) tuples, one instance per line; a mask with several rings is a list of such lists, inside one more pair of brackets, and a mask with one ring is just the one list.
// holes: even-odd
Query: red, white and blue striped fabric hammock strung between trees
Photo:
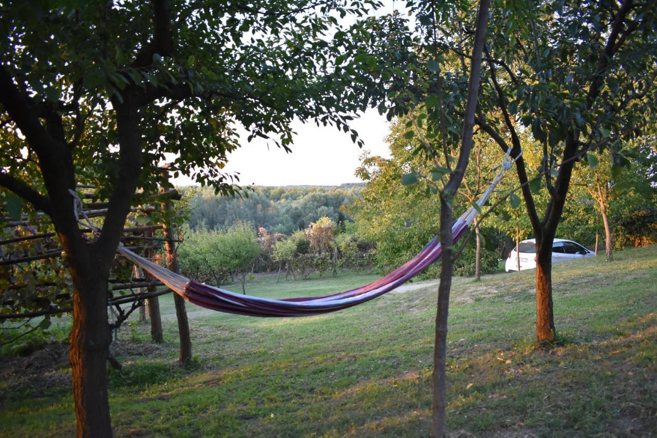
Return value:
[[(489, 185), (482, 197), (476, 201), (479, 208), (471, 207), (463, 216), (455, 220), (452, 226), (452, 236), (455, 242), (468, 230), (478, 210), (484, 206), (495, 186), (502, 180), (504, 172), (510, 168), (511, 163), (512, 160), (509, 159), (509, 152), (507, 152), (501, 170), (495, 175), (491, 185)], [(147, 258), (133, 253), (123, 245), (119, 245), (118, 252), (143, 270), (149, 272), (154, 278), (162, 281), (172, 291), (190, 303), (219, 312), (246, 316), (275, 317), (309, 316), (335, 312), (336, 310), (342, 310), (380, 297), (384, 293), (388, 293), (397, 286), (411, 280), (411, 278), (438, 260), (442, 254), (442, 248), (440, 247), (438, 237), (434, 237), (417, 256), (373, 283), (331, 295), (288, 299), (268, 299), (254, 297), (252, 295), (241, 295), (175, 274), (151, 262)]]

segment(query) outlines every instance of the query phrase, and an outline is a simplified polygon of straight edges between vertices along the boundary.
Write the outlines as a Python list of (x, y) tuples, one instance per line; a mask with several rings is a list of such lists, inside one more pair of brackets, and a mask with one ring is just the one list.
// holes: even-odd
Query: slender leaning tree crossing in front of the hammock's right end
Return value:
[[(413, 120), (407, 124), (415, 130), (407, 132), (407, 138), (412, 138), (417, 129), (426, 123), (426, 134), (421, 135), (420, 146), (415, 155), (423, 154), (432, 162), (432, 180), (436, 184), (434, 193), (440, 196), (440, 245), (442, 247), (440, 285), (438, 287), (438, 306), (436, 309), (436, 334), (434, 341), (434, 371), (432, 374), (433, 409), (432, 409), (432, 436), (445, 435), (445, 360), (447, 347), (447, 316), (449, 314), (449, 294), (453, 278), (454, 262), (457, 256), (453, 241), (453, 208), (454, 199), (463, 182), (474, 136), (474, 119), (478, 107), (478, 94), (482, 56), (486, 43), (486, 28), (489, 19), (489, 5), (487, 0), (481, 0), (476, 7), (476, 13), (467, 3), (454, 7), (451, 4), (419, 3), (413, 5), (412, 11), (419, 17), (422, 25), (420, 34), (424, 34), (424, 57), (426, 64), (418, 72), (415, 87), (409, 87), (410, 93), (421, 91), (415, 99), (421, 99), (424, 105), (413, 113)], [(474, 23), (468, 18), (476, 17)], [(463, 71), (454, 70), (445, 56), (439, 55), (438, 28), (442, 29), (440, 41), (457, 40), (467, 43), (471, 47), (469, 66), (463, 62)], [(466, 28), (467, 37), (459, 36), (459, 32)], [(452, 33), (450, 33), (452, 32)], [(473, 36), (474, 37), (471, 37)], [(466, 78), (466, 85), (461, 88), (463, 96), (457, 96), (454, 86), (457, 82), (455, 76)], [(413, 89), (415, 88), (415, 89)], [(445, 106), (449, 100), (449, 106)], [(446, 114), (445, 109), (459, 107), (462, 109), (461, 117), (455, 118)], [(460, 129), (460, 131), (459, 131)], [(458, 155), (452, 157), (452, 153)], [(403, 185), (414, 185), (419, 181), (417, 171), (407, 173), (401, 177)], [(431, 190), (430, 190), (431, 191)]]

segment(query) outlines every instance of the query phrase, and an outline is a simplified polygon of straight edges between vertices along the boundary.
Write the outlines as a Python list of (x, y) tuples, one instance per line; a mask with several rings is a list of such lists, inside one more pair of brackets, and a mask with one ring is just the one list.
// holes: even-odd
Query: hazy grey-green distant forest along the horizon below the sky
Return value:
[(340, 210), (351, 205), (360, 196), (363, 183), (340, 186), (254, 186), (248, 197), (217, 196), (210, 188), (194, 191), (190, 201), (189, 225), (193, 230), (225, 229), (238, 221), (248, 222), (257, 230), (266, 228), (270, 233), (290, 235), (304, 230), (311, 222), (327, 216), (344, 230), (350, 220)]

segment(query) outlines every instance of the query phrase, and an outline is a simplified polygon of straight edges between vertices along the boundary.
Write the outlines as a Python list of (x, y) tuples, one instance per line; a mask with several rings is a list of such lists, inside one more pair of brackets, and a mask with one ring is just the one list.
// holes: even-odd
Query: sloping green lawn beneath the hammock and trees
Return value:
[[(449, 320), (454, 436), (650, 436), (657, 431), (657, 246), (558, 264), (561, 345), (533, 345), (533, 271), (457, 279)], [(373, 276), (258, 279), (249, 293), (321, 294)], [(327, 316), (258, 319), (191, 308), (194, 363), (131, 322), (112, 351), (118, 436), (426, 436), (436, 286)], [(0, 435), (74, 432), (66, 349), (0, 362)]]

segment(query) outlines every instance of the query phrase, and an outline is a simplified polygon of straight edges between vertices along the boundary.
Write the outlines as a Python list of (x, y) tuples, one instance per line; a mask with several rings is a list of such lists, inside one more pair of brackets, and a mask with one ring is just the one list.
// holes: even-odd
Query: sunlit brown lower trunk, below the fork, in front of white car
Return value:
[(555, 338), (552, 305), (552, 239), (536, 245), (536, 340), (546, 343)]

